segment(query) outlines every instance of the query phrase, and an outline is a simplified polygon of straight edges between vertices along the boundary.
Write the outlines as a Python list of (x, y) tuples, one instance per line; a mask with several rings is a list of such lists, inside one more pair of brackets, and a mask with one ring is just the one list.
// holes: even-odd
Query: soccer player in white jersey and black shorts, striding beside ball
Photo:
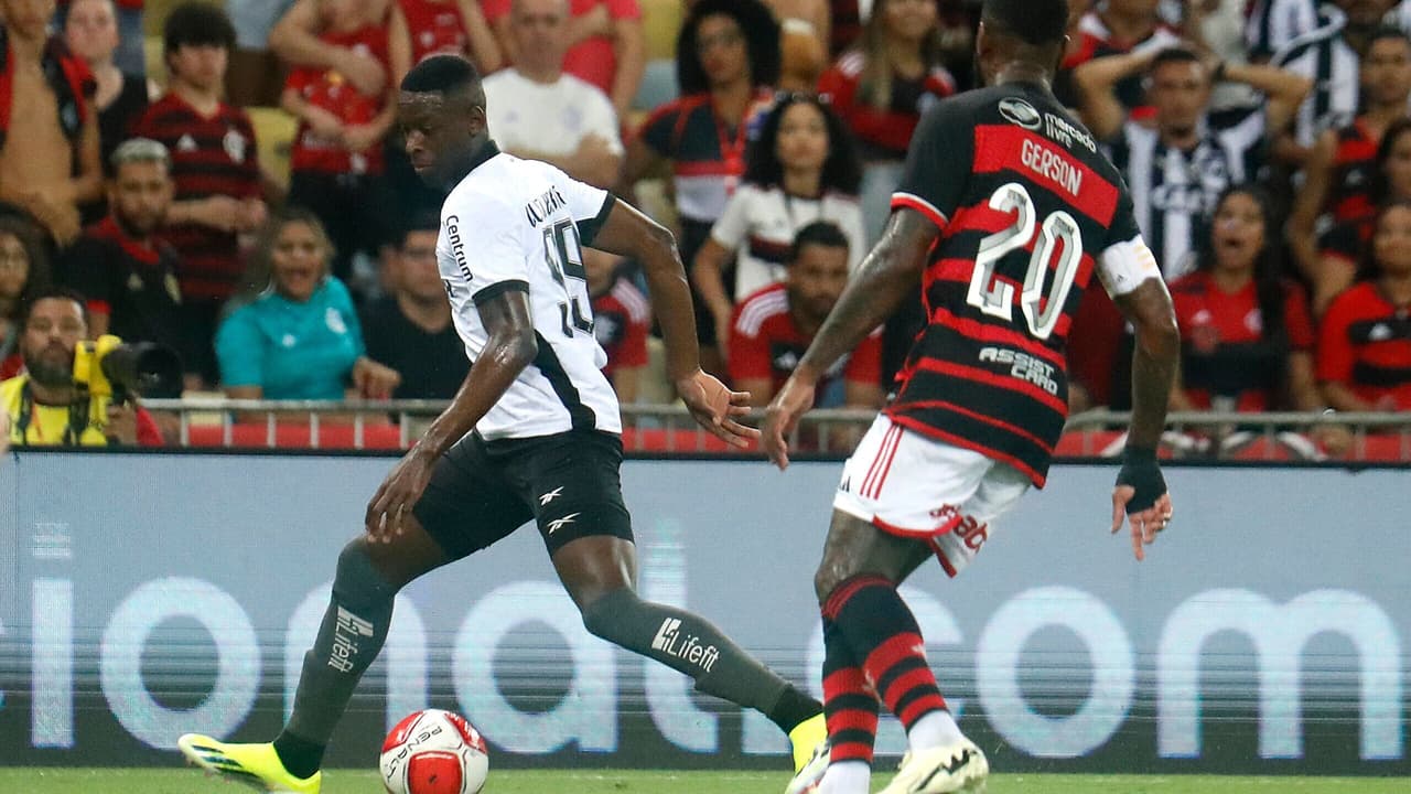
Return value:
[(701, 617), (634, 592), (621, 417), (600, 369), (581, 246), (642, 263), (667, 373), (696, 420), (732, 444), (758, 435), (737, 421), (749, 394), (700, 369), (672, 235), (553, 165), (499, 153), (480, 75), (460, 57), (413, 68), (398, 116), (418, 175), (450, 194), (436, 254), (470, 373), (368, 503), (365, 534), (339, 555), (333, 599), (279, 736), (233, 745), (188, 733), (182, 753), (271, 791), (316, 794), (323, 750), (381, 650), (396, 592), (535, 521), (590, 632), (690, 675), (701, 692), (765, 713), (789, 735), (797, 771), (823, 745), (821, 704)]

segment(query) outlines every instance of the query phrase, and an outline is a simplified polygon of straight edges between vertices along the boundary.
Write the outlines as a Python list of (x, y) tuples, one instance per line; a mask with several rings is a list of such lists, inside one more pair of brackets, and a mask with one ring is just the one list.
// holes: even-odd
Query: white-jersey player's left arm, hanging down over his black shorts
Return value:
[(404, 519), (426, 490), (436, 461), (480, 422), (539, 355), (528, 292), (505, 290), (477, 308), (490, 336), (485, 349), (471, 365), (452, 404), (368, 502), (364, 524), (374, 543), (388, 543), (402, 533)]

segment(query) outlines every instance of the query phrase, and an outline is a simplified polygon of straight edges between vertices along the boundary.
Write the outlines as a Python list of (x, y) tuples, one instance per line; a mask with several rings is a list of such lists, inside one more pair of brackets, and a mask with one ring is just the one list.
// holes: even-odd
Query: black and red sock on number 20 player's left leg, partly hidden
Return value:
[(872, 764), (878, 698), (837, 624), (823, 619), (823, 713), (828, 719), (830, 763)]

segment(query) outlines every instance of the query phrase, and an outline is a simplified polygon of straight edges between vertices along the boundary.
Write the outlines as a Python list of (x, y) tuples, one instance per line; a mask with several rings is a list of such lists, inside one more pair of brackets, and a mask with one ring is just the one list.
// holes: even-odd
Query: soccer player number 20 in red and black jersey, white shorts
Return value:
[(769, 458), (831, 365), (920, 280), (928, 325), (897, 394), (847, 462), (814, 588), (824, 620), (831, 759), (790, 791), (868, 791), (878, 699), (909, 754), (885, 794), (979, 786), (985, 754), (947, 709), (897, 585), (930, 557), (957, 575), (996, 520), (1043, 486), (1067, 415), (1065, 342), (1096, 274), (1136, 328), (1133, 418), (1112, 493), (1137, 559), (1171, 520), (1156, 446), (1180, 335), (1132, 199), (1096, 141), (1054, 99), (1065, 0), (985, 0), (976, 54), (991, 86), (931, 110), (882, 240), (770, 404)]

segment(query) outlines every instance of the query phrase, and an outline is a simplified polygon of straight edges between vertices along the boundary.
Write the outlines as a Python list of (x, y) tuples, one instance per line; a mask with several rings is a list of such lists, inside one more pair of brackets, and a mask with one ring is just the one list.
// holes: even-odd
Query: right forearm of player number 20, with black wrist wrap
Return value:
[(1165, 428), (1171, 387), (1181, 362), (1181, 333), (1175, 325), (1171, 294), (1160, 278), (1147, 278), (1136, 290), (1116, 298), (1118, 308), (1136, 328), (1132, 353), (1132, 425), (1127, 448), (1112, 492), (1112, 531), (1122, 517), (1132, 527), (1132, 551), (1146, 558), (1144, 545), (1171, 520), (1171, 494), (1156, 462), (1156, 448)]

